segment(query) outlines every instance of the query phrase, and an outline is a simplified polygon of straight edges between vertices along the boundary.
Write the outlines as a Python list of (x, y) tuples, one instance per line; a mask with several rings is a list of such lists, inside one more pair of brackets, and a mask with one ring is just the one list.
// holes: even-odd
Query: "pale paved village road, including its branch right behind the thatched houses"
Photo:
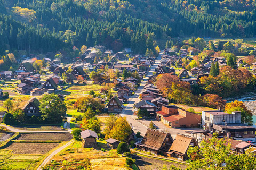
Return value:
[[(124, 106), (124, 109), (121, 113), (121, 116), (127, 117), (127, 121), (129, 121), (129, 123), (132, 124), (132, 129), (135, 133), (139, 131), (139, 132), (141, 132), (142, 135), (145, 135), (145, 133), (149, 127), (149, 123), (151, 122), (151, 120), (135, 120), (135, 118), (137, 118), (137, 116), (133, 115), (133, 113), (134, 113), (133, 105), (140, 101), (140, 99), (139, 99), (140, 92), (143, 90), (144, 86), (147, 84), (148, 77), (153, 75), (155, 68), (158, 66), (158, 64), (161, 63), (162, 55), (163, 55), (163, 51), (161, 51), (159, 56), (156, 58), (154, 65), (151, 66), (150, 71), (148, 72), (147, 76), (141, 82), (140, 87), (137, 89), (137, 91), (135, 91), (135, 94), (130, 97), (129, 104)], [(200, 129), (200, 128), (169, 128), (159, 121), (156, 121), (156, 120), (152, 120), (152, 121), (154, 122), (154, 124), (156, 126), (159, 127), (159, 130), (170, 132), (173, 138), (176, 137), (177, 133), (187, 134), (187, 133), (185, 133), (185, 131), (187, 131), (187, 130)], [(187, 135), (189, 135), (189, 134), (187, 134)]]

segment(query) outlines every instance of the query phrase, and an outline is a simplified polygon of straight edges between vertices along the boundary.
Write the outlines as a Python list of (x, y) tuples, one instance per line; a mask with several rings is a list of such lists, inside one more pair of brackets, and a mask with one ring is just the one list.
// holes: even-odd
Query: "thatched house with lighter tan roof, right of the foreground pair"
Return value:
[(167, 156), (174, 157), (180, 160), (187, 160), (187, 151), (189, 147), (199, 148), (196, 138), (189, 137), (188, 135), (177, 134), (172, 143), (171, 148), (166, 152)]

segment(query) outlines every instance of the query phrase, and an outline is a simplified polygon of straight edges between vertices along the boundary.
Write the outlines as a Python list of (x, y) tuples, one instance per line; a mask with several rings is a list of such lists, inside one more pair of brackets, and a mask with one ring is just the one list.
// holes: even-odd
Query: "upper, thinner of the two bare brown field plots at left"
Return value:
[(20, 137), (16, 140), (35, 140), (35, 141), (69, 141), (73, 136), (69, 132), (57, 133), (20, 133)]

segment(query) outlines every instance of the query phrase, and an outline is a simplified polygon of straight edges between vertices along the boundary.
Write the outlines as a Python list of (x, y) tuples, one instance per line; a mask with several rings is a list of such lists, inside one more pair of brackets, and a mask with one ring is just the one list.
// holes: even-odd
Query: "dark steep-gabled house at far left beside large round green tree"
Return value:
[(39, 105), (40, 101), (37, 98), (33, 97), (22, 108), (22, 110), (28, 117), (31, 117), (33, 115), (39, 117), (41, 115), (41, 112), (39, 111)]

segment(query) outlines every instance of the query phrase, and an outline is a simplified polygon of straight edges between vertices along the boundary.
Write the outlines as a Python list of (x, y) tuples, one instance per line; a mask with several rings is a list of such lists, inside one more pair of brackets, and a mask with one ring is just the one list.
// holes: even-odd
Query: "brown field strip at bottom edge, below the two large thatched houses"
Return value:
[(180, 167), (181, 169), (186, 169), (186, 165), (169, 162), (167, 160), (154, 159), (150, 157), (144, 157), (140, 155), (132, 155), (133, 159), (136, 159), (136, 164), (140, 168), (140, 170), (151, 170), (151, 169), (162, 169), (164, 164), (168, 168), (170, 165), (174, 165), (175, 167)]

